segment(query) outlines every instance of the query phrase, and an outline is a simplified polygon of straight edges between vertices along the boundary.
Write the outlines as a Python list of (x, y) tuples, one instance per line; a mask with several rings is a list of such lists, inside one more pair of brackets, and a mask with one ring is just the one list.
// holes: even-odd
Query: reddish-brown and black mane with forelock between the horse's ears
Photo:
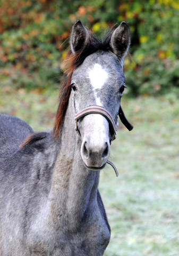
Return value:
[(71, 93), (71, 77), (73, 74), (73, 70), (76, 67), (79, 67), (84, 59), (86, 59), (90, 54), (101, 51), (112, 51), (110, 47), (110, 38), (112, 33), (109, 33), (104, 39), (99, 39), (95, 35), (89, 32), (89, 43), (83, 49), (80, 49), (75, 54), (71, 52), (71, 50), (67, 53), (66, 58), (64, 60), (64, 66), (66, 68), (64, 75), (64, 82), (61, 85), (61, 89), (59, 91), (59, 105), (55, 118), (55, 125), (53, 129), (53, 135), (55, 138), (58, 138), (59, 131), (61, 129), (63, 118), (69, 103), (70, 93)]

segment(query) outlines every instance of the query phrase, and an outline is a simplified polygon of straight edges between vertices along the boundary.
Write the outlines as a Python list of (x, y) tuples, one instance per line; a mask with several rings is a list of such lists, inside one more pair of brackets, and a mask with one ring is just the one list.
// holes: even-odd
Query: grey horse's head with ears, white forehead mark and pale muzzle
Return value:
[[(76, 119), (76, 130), (82, 140), (81, 157), (88, 169), (101, 170), (110, 154), (114, 130), (117, 132), (118, 113), (126, 87), (123, 62), (130, 45), (130, 29), (122, 22), (100, 41), (81, 21), (76, 21), (70, 44), (76, 59), (83, 59), (71, 77), (74, 116), (84, 112)], [(85, 111), (90, 108), (99, 111)]]

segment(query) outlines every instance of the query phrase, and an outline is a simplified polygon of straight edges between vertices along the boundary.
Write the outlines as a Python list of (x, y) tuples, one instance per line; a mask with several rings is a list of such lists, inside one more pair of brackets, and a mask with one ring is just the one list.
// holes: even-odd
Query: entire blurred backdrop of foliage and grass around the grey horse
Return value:
[(0, 0), (0, 113), (53, 127), (73, 23), (97, 36), (126, 21), (130, 55), (120, 124), (100, 192), (112, 238), (106, 256), (179, 255), (178, 0)]

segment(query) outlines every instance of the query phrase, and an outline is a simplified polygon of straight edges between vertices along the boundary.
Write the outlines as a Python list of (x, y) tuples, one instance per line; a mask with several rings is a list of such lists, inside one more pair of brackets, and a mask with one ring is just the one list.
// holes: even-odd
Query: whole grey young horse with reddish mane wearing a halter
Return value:
[(129, 46), (124, 21), (103, 39), (76, 21), (53, 130), (0, 116), (1, 256), (104, 254), (110, 227), (98, 183), (118, 115), (133, 127), (121, 108)]

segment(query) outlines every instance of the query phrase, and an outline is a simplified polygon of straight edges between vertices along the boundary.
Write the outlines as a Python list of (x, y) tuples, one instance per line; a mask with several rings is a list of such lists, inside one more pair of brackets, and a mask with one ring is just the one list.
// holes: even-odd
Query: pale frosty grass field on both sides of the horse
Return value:
[[(37, 130), (53, 127), (57, 92), (0, 92), (0, 113), (18, 116)], [(110, 161), (100, 175), (112, 236), (105, 256), (179, 255), (179, 102), (165, 97), (122, 99), (134, 125), (120, 124)]]

